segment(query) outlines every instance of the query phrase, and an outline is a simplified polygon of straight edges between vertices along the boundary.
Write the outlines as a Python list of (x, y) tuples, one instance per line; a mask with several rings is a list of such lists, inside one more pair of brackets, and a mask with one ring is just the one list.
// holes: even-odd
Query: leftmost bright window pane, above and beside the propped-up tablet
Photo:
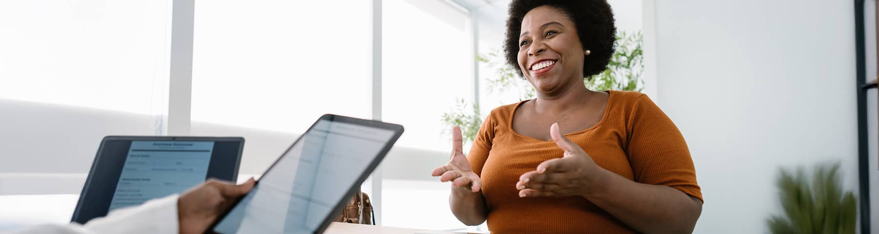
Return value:
[(171, 0), (0, 2), (0, 173), (85, 174), (105, 135), (156, 134), (170, 18)]

